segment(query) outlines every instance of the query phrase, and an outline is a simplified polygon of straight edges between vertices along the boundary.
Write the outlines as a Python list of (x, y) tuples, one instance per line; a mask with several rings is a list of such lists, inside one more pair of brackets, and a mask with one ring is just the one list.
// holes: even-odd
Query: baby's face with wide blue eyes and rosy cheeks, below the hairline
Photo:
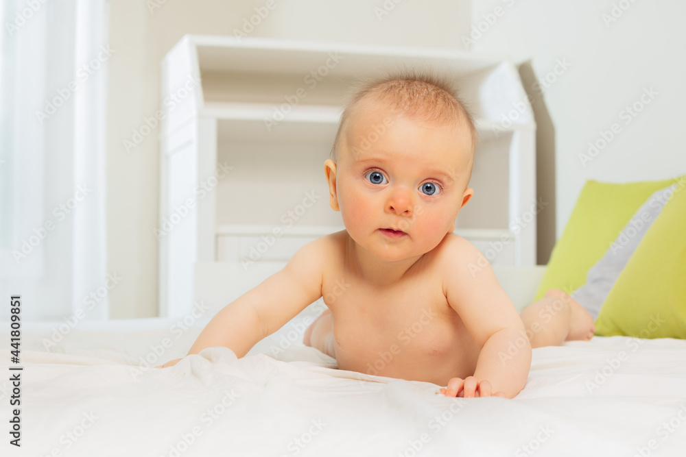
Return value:
[(325, 164), (331, 207), (351, 238), (378, 258), (421, 256), (455, 230), (473, 194), (466, 187), (470, 153), (468, 129), (436, 127), (377, 105), (359, 110), (338, 164)]

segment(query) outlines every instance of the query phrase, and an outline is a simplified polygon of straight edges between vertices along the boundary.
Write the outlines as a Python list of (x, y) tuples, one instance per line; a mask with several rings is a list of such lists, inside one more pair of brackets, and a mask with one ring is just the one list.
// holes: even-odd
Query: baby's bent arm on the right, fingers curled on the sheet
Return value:
[[(481, 388), (487, 380), (487, 395), (502, 392), (512, 398), (526, 384), (532, 356), (517, 308), (498, 283), (490, 264), (471, 243), (454, 237), (448, 251), (453, 262), (451, 268), (445, 269), (443, 291), (481, 350), (475, 379), (467, 378), (457, 388), (464, 388), (464, 397), (473, 397), (475, 388)], [(455, 387), (449, 383), (447, 388), (451, 391)]]

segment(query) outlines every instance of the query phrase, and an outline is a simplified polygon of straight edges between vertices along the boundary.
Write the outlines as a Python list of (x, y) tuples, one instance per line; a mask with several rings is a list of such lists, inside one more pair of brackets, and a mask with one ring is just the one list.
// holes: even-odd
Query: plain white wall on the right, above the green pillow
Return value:
[[(616, 21), (613, 4), (626, 8), (614, 10)], [(474, 24), (482, 22), (485, 30), (475, 34), (474, 51), (505, 53), (517, 63), (532, 60), (539, 80), (556, 79), (543, 98), (555, 128), (558, 236), (586, 180), (686, 173), (685, 18), (686, 2), (680, 0), (473, 1)], [(549, 75), (565, 60), (567, 70), (560, 66), (560, 75)], [(644, 88), (657, 95), (626, 123), (623, 110), (641, 104)], [(613, 123), (619, 133), (584, 167), (580, 154)]]

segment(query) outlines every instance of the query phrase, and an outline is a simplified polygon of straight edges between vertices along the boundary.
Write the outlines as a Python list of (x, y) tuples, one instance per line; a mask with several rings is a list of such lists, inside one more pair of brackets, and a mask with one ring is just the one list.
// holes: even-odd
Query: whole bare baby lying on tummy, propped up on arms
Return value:
[(218, 312), (188, 354), (225, 346), (243, 357), (324, 297), (329, 309), (303, 343), (339, 369), (432, 382), (448, 397), (517, 395), (532, 347), (587, 340), (595, 327), (558, 289), (517, 314), (480, 251), (453, 233), (474, 194), (476, 139), (447, 80), (412, 74), (359, 88), (324, 162), (346, 230), (298, 249)]

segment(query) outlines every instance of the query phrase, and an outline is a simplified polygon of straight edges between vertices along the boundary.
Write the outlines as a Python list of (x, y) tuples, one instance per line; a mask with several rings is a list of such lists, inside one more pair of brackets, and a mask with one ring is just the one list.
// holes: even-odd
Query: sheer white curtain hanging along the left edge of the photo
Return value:
[(24, 321), (108, 318), (107, 11), (0, 2), (0, 300)]

